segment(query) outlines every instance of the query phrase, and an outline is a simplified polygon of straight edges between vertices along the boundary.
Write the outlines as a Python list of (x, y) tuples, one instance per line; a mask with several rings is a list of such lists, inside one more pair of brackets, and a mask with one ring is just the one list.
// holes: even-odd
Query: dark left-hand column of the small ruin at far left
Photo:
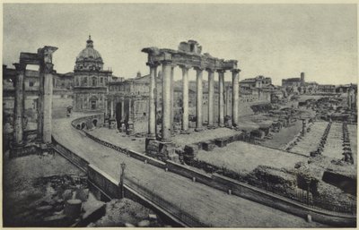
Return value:
[(23, 144), (23, 112), (24, 112), (24, 77), (26, 71), (26, 64), (13, 64), (16, 68), (15, 78), (15, 105), (14, 105), (14, 122), (13, 122), (13, 137), (14, 143), (17, 146)]

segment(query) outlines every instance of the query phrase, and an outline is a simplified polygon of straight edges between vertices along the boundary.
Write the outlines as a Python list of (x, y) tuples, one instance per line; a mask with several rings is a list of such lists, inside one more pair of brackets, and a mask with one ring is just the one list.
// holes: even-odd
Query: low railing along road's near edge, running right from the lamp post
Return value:
[(133, 188), (136, 190), (136, 192), (143, 195), (148, 200), (153, 201), (156, 205), (160, 206), (162, 209), (165, 209), (169, 213), (171, 213), (172, 216), (179, 218), (182, 222), (184, 222), (188, 226), (194, 226), (194, 227), (205, 227), (209, 226), (205, 223), (201, 222), (197, 217), (194, 217), (193, 215), (186, 212), (184, 209), (172, 204), (171, 202), (167, 200), (163, 200), (160, 195), (158, 195), (154, 189), (150, 190), (148, 188), (145, 188), (143, 186), (138, 185), (138, 183), (135, 183), (132, 179), (126, 177), (125, 184), (127, 186)]

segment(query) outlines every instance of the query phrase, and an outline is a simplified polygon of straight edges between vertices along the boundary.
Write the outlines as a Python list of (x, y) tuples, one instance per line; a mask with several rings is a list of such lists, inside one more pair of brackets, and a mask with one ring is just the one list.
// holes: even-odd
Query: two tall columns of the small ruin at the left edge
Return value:
[[(16, 69), (15, 103), (14, 103), (14, 143), (22, 146), (24, 142), (24, 111), (25, 111), (25, 85), (24, 78), (26, 64), (13, 64)], [(38, 136), (44, 143), (51, 142), (52, 133), (52, 91), (53, 91), (54, 64), (46, 63), (39, 66), (39, 99), (38, 99)]]

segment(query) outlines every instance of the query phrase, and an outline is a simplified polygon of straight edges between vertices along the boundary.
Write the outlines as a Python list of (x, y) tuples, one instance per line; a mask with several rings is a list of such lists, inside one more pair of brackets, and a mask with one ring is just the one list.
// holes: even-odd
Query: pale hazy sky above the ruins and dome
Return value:
[(105, 68), (128, 78), (149, 72), (143, 47), (195, 39), (203, 53), (237, 59), (240, 79), (280, 84), (305, 72), (340, 84), (357, 81), (356, 22), (355, 4), (4, 4), (3, 63), (48, 45), (57, 72), (72, 72), (91, 34)]

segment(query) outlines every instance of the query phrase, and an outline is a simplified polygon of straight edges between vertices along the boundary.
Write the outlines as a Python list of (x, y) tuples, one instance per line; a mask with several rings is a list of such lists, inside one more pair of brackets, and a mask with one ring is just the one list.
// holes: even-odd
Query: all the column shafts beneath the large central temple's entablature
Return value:
[[(150, 66), (150, 93), (149, 93), (149, 118), (148, 118), (148, 137), (156, 136), (156, 72), (159, 64), (149, 64)], [(176, 64), (171, 61), (162, 61), (162, 140), (171, 142), (171, 130), (173, 124), (173, 69)], [(180, 65), (182, 69), (182, 132), (188, 132), (188, 70), (189, 65)], [(203, 71), (205, 68), (194, 67), (197, 77), (196, 95), (196, 131), (203, 130), (202, 121), (202, 99), (203, 99)], [(206, 69), (208, 72), (208, 126), (214, 126), (214, 98), (215, 98), (215, 71)], [(217, 70), (219, 77), (219, 126), (224, 126), (224, 70)], [(238, 124), (239, 109), (239, 69), (232, 70), (232, 124)]]

